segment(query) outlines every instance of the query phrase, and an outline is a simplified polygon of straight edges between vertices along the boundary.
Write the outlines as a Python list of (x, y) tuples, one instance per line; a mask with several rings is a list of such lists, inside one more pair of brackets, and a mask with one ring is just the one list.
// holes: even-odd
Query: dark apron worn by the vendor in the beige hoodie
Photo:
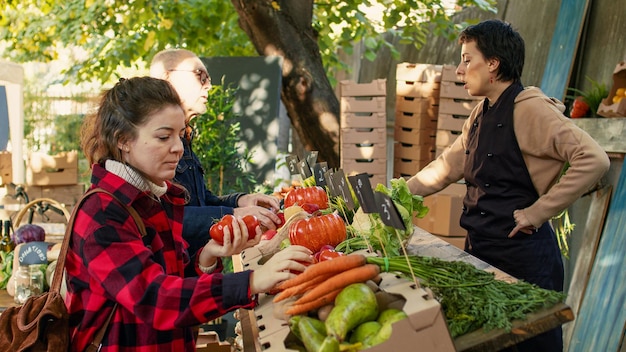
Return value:
[[(522, 90), (520, 83), (512, 84), (491, 108), (485, 100), (469, 131), (464, 170), (467, 194), (461, 215), (461, 226), (468, 233), (465, 250), (518, 279), (562, 291), (563, 262), (549, 222), (532, 235), (519, 232), (507, 237), (515, 227), (513, 211), (539, 198), (513, 127), (514, 101)], [(553, 341), (562, 345), (560, 333)], [(532, 350), (559, 350), (556, 345), (544, 347)]]

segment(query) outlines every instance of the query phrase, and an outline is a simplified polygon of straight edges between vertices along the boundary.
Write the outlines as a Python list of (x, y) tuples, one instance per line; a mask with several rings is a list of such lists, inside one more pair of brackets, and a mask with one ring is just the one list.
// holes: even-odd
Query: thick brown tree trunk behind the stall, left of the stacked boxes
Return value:
[[(259, 55), (283, 58), (281, 99), (293, 129), (318, 160), (339, 167), (339, 101), (326, 77), (312, 0), (232, 0)], [(300, 155), (302, 157), (302, 155)]]

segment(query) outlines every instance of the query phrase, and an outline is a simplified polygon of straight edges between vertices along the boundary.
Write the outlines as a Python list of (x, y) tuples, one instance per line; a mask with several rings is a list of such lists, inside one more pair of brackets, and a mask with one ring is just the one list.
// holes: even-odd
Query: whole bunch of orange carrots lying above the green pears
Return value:
[(285, 313), (304, 314), (331, 304), (346, 286), (375, 278), (380, 267), (368, 264), (365, 256), (351, 254), (312, 264), (293, 279), (278, 286), (274, 302), (300, 296)]

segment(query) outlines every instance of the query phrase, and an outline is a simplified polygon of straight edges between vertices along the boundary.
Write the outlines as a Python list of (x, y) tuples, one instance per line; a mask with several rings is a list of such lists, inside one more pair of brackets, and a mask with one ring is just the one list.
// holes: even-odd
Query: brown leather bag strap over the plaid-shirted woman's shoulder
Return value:
[[(83, 194), (80, 200), (76, 202), (76, 205), (74, 206), (74, 209), (72, 210), (72, 215), (70, 216), (70, 219), (67, 222), (67, 228), (65, 229), (65, 236), (63, 237), (63, 243), (61, 244), (59, 258), (57, 259), (57, 266), (54, 268), (54, 277), (52, 278), (52, 284), (50, 285), (51, 291), (56, 291), (57, 293), (61, 292), (61, 279), (63, 278), (65, 258), (67, 257), (70, 237), (72, 236), (72, 231), (74, 229), (75, 217), (76, 217), (76, 214), (78, 213), (80, 205), (83, 203), (85, 199), (87, 199), (87, 197), (89, 197), (93, 193), (108, 194), (111, 198), (113, 198), (119, 204), (124, 206), (124, 208), (126, 208), (126, 210), (130, 213), (130, 215), (135, 220), (135, 224), (137, 225), (137, 228), (139, 229), (139, 232), (141, 233), (141, 237), (144, 237), (146, 235), (146, 225), (144, 224), (143, 220), (141, 219), (141, 216), (139, 216), (135, 208), (126, 205), (121, 200), (119, 200), (119, 198), (113, 195), (113, 193), (106, 191), (102, 188), (94, 188), (94, 189), (87, 191), (85, 194)], [(102, 339), (104, 338), (104, 334), (106, 333), (106, 330), (109, 327), (109, 323), (111, 322), (111, 319), (113, 318), (113, 315), (115, 314), (116, 310), (117, 310), (117, 303), (115, 303), (115, 305), (113, 306), (113, 309), (111, 310), (111, 313), (109, 313), (109, 316), (104, 322), (104, 325), (102, 325), (102, 327), (98, 329), (98, 331), (96, 332), (96, 335), (94, 336), (93, 341), (91, 342), (90, 346), (88, 346), (87, 350), (90, 350), (90, 348), (95, 348), (96, 351), (100, 350)]]

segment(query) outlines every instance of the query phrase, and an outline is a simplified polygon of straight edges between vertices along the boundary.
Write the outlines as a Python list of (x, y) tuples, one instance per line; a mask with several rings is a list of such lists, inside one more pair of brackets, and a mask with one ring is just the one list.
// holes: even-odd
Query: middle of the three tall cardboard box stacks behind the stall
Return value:
[(393, 177), (410, 177), (434, 158), (440, 65), (400, 63), (396, 68)]

